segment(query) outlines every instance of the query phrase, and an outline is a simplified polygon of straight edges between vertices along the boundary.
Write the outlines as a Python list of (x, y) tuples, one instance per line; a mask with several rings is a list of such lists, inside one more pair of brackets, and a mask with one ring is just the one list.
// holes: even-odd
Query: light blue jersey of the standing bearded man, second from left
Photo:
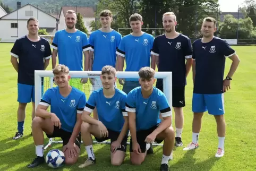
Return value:
[(66, 65), (70, 71), (83, 71), (83, 52), (91, 49), (86, 33), (80, 30), (74, 33), (57, 31), (52, 48), (58, 50), (59, 64)]

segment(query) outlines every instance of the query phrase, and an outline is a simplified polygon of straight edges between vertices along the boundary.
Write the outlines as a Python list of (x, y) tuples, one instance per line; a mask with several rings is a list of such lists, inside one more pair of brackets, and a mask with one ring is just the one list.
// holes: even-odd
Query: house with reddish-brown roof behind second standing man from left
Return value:
[(91, 21), (95, 21), (95, 14), (92, 7), (63, 6), (59, 13), (59, 30), (66, 29), (65, 14), (67, 10), (73, 10), (76, 11), (76, 13), (80, 13), (83, 16), (84, 26), (87, 28), (88, 32), (91, 33), (89, 25)]

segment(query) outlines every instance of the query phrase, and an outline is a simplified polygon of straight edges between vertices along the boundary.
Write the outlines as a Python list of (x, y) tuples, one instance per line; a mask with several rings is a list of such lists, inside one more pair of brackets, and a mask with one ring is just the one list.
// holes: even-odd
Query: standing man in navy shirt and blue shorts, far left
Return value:
[[(32, 119), (35, 117), (35, 70), (45, 70), (52, 51), (49, 42), (38, 36), (39, 22), (35, 18), (27, 21), (28, 35), (17, 39), (11, 50), (11, 63), (18, 72), (18, 132), (14, 140), (23, 136), (25, 109), (32, 101)], [(18, 62), (19, 59), (19, 62)]]

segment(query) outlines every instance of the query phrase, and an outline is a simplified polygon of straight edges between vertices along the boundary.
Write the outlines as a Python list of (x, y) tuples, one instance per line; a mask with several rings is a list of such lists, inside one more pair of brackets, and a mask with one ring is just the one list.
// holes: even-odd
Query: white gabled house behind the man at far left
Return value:
[(38, 19), (39, 28), (46, 29), (50, 35), (55, 34), (56, 18), (27, 4), (0, 18), (0, 42), (15, 42), (17, 38), (27, 35), (27, 20), (31, 17)]

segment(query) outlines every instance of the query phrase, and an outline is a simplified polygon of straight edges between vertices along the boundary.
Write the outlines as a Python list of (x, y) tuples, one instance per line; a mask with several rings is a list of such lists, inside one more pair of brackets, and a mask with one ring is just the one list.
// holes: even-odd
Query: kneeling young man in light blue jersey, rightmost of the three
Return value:
[[(150, 67), (143, 67), (139, 76), (141, 87), (129, 92), (126, 99), (131, 132), (131, 161), (140, 165), (147, 153), (152, 153), (151, 143), (161, 143), (164, 140), (160, 170), (168, 170), (169, 156), (175, 140), (171, 126), (172, 112), (164, 93), (153, 87), (155, 71)], [(160, 113), (163, 121), (159, 118)]]

